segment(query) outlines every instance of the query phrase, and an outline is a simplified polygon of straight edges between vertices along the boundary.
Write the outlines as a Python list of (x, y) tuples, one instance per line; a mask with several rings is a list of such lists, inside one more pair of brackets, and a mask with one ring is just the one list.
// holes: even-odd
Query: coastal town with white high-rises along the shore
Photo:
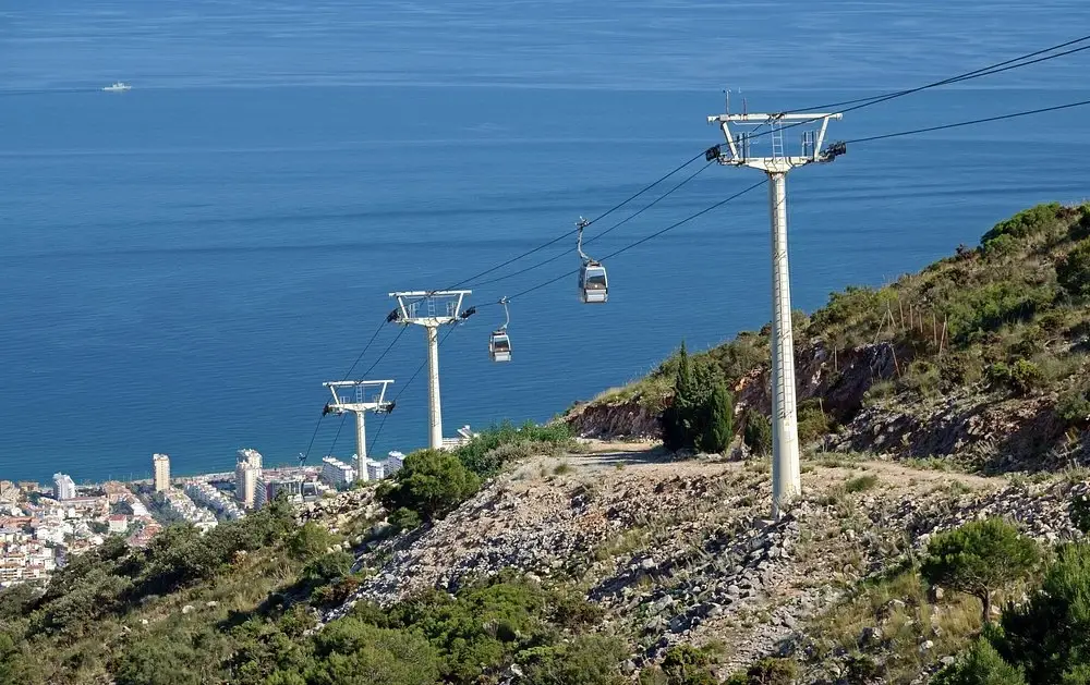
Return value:
[(233, 472), (171, 477), (170, 456), (152, 456), (153, 478), (76, 486), (69, 474), (51, 486), (0, 480), (0, 587), (41, 582), (70, 559), (110, 536), (146, 546), (164, 526), (201, 530), (245, 516), (278, 497), (303, 504), (397, 473), (404, 455), (349, 461), (326, 456), (320, 466), (265, 468), (257, 450), (238, 451)]

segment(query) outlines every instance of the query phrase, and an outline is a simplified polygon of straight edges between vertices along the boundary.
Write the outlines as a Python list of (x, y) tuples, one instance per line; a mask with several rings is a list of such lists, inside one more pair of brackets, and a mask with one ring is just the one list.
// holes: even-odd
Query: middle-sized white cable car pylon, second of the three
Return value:
[(462, 301), (473, 291), (409, 291), (390, 293), (396, 297), (398, 308), (390, 320), (403, 326), (422, 326), (427, 333), (427, 399), (428, 440), (427, 447), (443, 449), (443, 407), (439, 402), (439, 327), (450, 326), (464, 319), (473, 309), (462, 311)]

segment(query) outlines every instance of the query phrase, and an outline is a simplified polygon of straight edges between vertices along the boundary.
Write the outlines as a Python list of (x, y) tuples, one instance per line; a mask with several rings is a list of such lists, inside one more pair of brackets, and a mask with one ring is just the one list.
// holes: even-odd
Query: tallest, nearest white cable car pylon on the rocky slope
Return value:
[[(799, 468), (799, 429), (795, 405), (795, 341), (791, 331), (791, 283), (787, 264), (787, 172), (813, 162), (831, 162), (846, 151), (844, 143), (822, 148), (831, 119), (839, 113), (714, 114), (727, 139), (707, 150), (707, 161), (734, 167), (752, 167), (768, 176), (768, 210), (772, 217), (772, 516), (779, 518), (790, 500), (802, 491)], [(814, 123), (816, 130), (802, 132), (801, 154), (788, 155), (784, 145), (787, 127)], [(755, 130), (735, 132), (731, 126), (768, 126), (762, 135), (772, 138), (772, 155), (751, 155)]]

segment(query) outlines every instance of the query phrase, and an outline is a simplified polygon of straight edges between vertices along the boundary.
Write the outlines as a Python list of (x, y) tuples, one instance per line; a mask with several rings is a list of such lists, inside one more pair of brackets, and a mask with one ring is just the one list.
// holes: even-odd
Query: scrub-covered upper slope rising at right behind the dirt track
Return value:
[[(1090, 205), (1041, 205), (919, 273), (797, 313), (802, 441), (986, 470), (1083, 462), (1088, 236)], [(767, 334), (695, 355), (734, 390), (739, 435), (770, 411)], [(657, 437), (675, 368), (676, 357), (566, 419), (580, 435)]]

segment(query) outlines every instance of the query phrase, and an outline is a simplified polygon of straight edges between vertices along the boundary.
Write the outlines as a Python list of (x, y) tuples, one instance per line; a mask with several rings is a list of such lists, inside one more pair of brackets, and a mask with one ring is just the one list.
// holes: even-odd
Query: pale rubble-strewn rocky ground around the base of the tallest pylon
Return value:
[[(804, 497), (773, 523), (764, 518), (766, 462), (675, 462), (650, 450), (531, 460), (434, 527), (368, 545), (360, 562), (374, 574), (325, 619), (360, 599), (390, 604), (517, 570), (604, 608), (600, 628), (637, 646), (630, 673), (685, 643), (718, 646), (724, 677), (761, 657), (794, 655), (812, 659), (807, 673), (822, 682), (846, 652), (815, 656), (828, 636), (813, 626), (862, 578), (972, 517), (1012, 518), (1042, 541), (1069, 538), (1070, 491), (1087, 488), (1075, 478), (1013, 482), (829, 455), (804, 470)], [(881, 629), (867, 627), (871, 637)], [(935, 639), (942, 629), (937, 619), (920, 628), (925, 664), (956, 647)], [(882, 640), (871, 641), (880, 653)]]

